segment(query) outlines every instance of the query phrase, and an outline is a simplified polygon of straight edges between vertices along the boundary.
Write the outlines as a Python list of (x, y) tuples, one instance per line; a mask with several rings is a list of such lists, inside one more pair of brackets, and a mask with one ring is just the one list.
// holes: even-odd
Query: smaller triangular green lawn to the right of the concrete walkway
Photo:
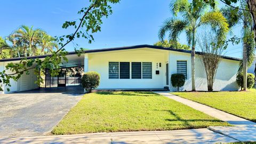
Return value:
[(256, 122), (255, 89), (246, 92), (173, 92), (172, 94)]

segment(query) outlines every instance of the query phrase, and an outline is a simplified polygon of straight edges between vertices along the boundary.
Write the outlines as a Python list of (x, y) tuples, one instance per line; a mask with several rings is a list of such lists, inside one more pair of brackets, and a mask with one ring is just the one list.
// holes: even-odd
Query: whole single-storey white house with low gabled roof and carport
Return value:
[[(100, 74), (100, 85), (97, 89), (103, 90), (163, 90), (172, 87), (170, 79), (175, 73), (186, 76), (186, 83), (181, 87), (182, 91), (191, 90), (191, 57), (187, 50), (176, 50), (153, 45), (137, 45), (116, 47), (110, 49), (87, 50), (81, 57), (75, 52), (69, 52), (68, 63), (62, 65), (60, 76), (51, 77), (45, 72), (45, 83), (42, 87), (67, 86), (66, 68), (78, 67), (83, 71), (97, 71)], [(200, 53), (197, 52), (197, 55)], [(45, 58), (41, 55), (30, 58)], [(9, 62), (19, 62), (20, 58), (1, 59), (0, 70)], [(217, 70), (213, 90), (236, 91), (239, 87), (236, 83), (236, 73), (241, 59), (223, 56)], [(7, 71), (10, 73), (10, 71)], [(80, 73), (80, 72), (79, 72)], [(10, 92), (25, 91), (37, 88), (34, 84), (36, 76), (31, 70), (30, 75), (22, 75), (15, 82), (11, 81)], [(79, 79), (78, 79), (79, 80)], [(77, 83), (80, 83), (78, 82)], [(74, 80), (72, 81), (74, 83)], [(4, 93), (7, 87), (4, 87)], [(196, 90), (206, 91), (206, 73), (202, 62), (196, 57)]]

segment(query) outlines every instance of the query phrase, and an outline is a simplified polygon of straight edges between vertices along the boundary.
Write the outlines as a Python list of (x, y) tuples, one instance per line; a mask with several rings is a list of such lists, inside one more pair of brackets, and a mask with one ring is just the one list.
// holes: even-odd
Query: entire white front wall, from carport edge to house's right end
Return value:
[[(191, 58), (190, 53), (153, 50), (153, 49), (134, 49), (110, 52), (98, 52), (88, 54), (88, 70), (97, 71), (100, 76), (98, 89), (163, 89), (166, 86), (165, 63), (169, 62), (169, 86), (171, 91), (177, 91), (172, 87), (170, 77), (177, 73), (177, 60), (186, 60), (188, 69), (188, 79), (182, 91), (191, 91)], [(109, 79), (108, 62), (152, 62), (152, 79)], [(156, 63), (161, 62), (162, 67), (156, 67)], [(236, 91), (239, 90), (236, 84), (236, 73), (239, 62), (234, 60), (222, 59), (217, 70), (213, 90), (214, 91)], [(131, 67), (131, 63), (130, 63)], [(156, 75), (155, 71), (160, 74)], [(203, 63), (196, 57), (196, 90), (207, 91), (206, 73)]]

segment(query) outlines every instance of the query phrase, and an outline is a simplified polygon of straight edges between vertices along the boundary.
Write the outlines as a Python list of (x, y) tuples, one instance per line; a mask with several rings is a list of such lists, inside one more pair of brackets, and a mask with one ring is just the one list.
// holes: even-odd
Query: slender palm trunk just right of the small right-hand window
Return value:
[(196, 91), (195, 86), (195, 29), (193, 30), (192, 37), (192, 48), (191, 48), (191, 82), (192, 82), (192, 91)]

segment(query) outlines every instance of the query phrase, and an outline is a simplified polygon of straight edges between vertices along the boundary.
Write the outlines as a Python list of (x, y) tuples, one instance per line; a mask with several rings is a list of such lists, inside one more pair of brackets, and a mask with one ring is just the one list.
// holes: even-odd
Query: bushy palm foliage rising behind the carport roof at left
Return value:
[(0, 46), (0, 50), (10, 50), (11, 57), (27, 57), (31, 55), (48, 54), (58, 49), (56, 39), (41, 29), (21, 26), (5, 38), (8, 42)]

